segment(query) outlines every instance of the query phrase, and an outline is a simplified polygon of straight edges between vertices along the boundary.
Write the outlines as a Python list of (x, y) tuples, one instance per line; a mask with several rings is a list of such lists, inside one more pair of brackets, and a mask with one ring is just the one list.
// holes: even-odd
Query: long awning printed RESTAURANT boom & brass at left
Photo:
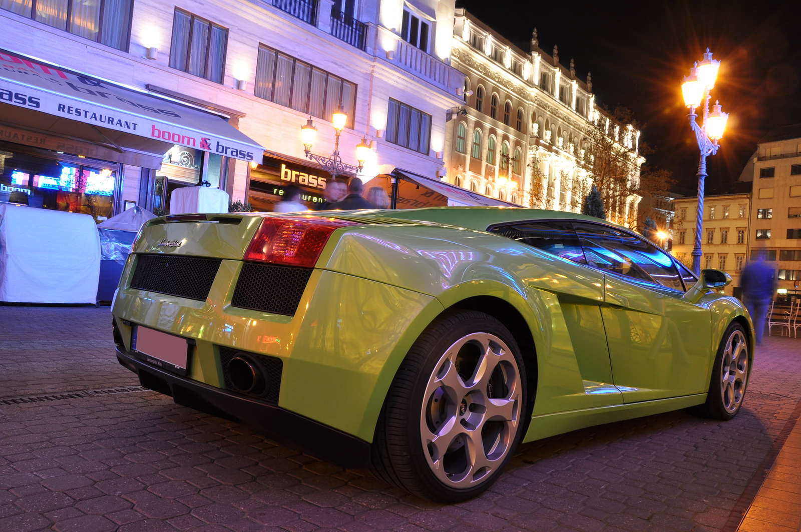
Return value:
[[(163, 155), (179, 144), (252, 161), (264, 151), (217, 115), (5, 50), (0, 50), (0, 104), (6, 104), (4, 123), (90, 139), (119, 152)], [(30, 124), (30, 111), (50, 118), (39, 115)]]

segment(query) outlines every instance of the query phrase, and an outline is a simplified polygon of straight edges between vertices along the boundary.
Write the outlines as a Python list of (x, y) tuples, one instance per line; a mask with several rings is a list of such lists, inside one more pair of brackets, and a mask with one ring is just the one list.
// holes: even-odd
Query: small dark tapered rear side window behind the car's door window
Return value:
[(489, 232), (529, 244), (563, 259), (586, 264), (582, 246), (570, 222), (530, 222), (490, 228)]

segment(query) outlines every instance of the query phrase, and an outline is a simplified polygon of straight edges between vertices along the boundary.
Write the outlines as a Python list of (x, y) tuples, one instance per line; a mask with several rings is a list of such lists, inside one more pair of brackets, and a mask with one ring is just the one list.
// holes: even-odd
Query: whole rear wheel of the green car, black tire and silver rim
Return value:
[[(489, 346), (485, 353), (492, 352), (491, 356), (485, 356), (486, 367), (493, 369), (489, 377), (479, 378), (481, 370), (477, 361), (481, 360), (481, 355), (476, 362), (471, 357), (484, 349), (484, 338)], [(455, 363), (449, 358), (454, 357), (453, 353), (459, 353), (453, 359)], [(468, 359), (469, 362), (465, 362)], [(470, 364), (473, 364), (473, 369), (469, 369)], [(460, 390), (468, 390), (458, 404), (457, 399), (451, 400), (451, 397), (459, 397), (458, 393), (452, 393), (459, 389), (458, 385), (449, 387), (445, 384), (445, 373), (450, 377), (456, 374), (450, 369), (460, 376), (458, 383), (465, 386)], [(462, 373), (469, 374), (469, 377), (463, 377)], [(486, 376), (488, 373), (481, 374)], [(517, 377), (513, 380), (515, 374)], [(475, 387), (469, 389), (465, 383), (473, 383)], [(476, 497), (503, 472), (521, 438), (526, 412), (525, 385), (525, 365), (520, 349), (500, 321), (475, 311), (450, 312), (441, 316), (409, 349), (392, 381), (376, 424), (372, 444), (373, 474), (402, 490), (439, 502), (461, 502)], [(497, 415), (499, 408), (505, 409), (503, 415)], [(515, 416), (517, 421), (513, 425)], [(437, 425), (446, 418), (445, 425)], [(436, 429), (425, 433), (424, 423), (426, 427)], [(437, 435), (437, 429), (445, 430), (446, 425), (451, 427), (448, 434)], [(459, 432), (465, 434), (453, 437)], [(423, 437), (432, 434), (440, 441), (438, 445), (445, 448), (443, 453), (440, 454), (441, 448), (435, 446), (433, 440), (429, 440), (428, 446), (424, 445)], [(476, 441), (482, 444), (481, 454), (473, 454), (471, 450), (477, 447)], [(440, 459), (437, 460), (435, 455)], [(471, 456), (473, 465), (470, 465)], [(461, 465), (454, 464), (461, 463), (461, 460), (466, 464), (465, 470), (449, 474), (448, 468), (458, 469)], [(440, 477), (434, 473), (436, 466), (431, 465), (434, 463), (441, 465)], [(465, 475), (458, 480), (462, 484), (452, 480), (459, 475)], [(463, 486), (465, 482), (470, 485)]]

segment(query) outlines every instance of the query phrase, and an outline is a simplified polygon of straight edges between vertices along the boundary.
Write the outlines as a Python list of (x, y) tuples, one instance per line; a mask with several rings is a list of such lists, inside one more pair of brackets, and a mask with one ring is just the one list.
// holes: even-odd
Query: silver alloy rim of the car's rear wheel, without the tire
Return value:
[(504, 462), (521, 420), (521, 375), (512, 351), (489, 332), (453, 343), (429, 377), (420, 419), (433, 474), (453, 488), (477, 486)]

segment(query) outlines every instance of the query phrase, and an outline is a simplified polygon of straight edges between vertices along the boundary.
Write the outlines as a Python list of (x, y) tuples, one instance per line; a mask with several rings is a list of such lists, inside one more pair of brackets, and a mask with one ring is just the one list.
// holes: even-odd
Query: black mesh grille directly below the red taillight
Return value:
[(246, 262), (236, 281), (231, 304), (262, 312), (293, 316), (313, 268)]

